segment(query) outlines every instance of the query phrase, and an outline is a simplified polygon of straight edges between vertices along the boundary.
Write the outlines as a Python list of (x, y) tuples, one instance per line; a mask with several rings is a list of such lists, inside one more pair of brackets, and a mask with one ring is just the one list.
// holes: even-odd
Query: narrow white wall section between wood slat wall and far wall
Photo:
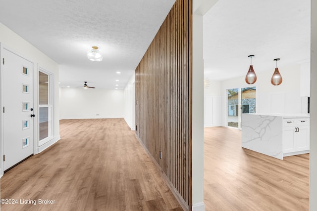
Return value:
[(133, 74), (124, 88), (124, 120), (135, 130), (135, 75)]

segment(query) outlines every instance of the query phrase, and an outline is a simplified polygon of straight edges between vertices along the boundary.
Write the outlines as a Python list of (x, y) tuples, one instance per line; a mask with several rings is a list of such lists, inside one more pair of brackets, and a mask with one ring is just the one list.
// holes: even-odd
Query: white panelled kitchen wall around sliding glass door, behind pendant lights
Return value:
[[(227, 93), (228, 88), (239, 88), (247, 86), (256, 86), (257, 113), (290, 113), (298, 114), (305, 110), (305, 104), (302, 101), (307, 97), (301, 96), (301, 65), (278, 67), (282, 75), (283, 82), (278, 86), (270, 83), (274, 67), (272, 70), (256, 72), (257, 82), (255, 84), (246, 84), (245, 76), (226, 80), (221, 82), (221, 125), (226, 126)], [(246, 67), (246, 73), (248, 67)], [(256, 66), (255, 66), (255, 71)], [(307, 109), (306, 109), (307, 110)]]

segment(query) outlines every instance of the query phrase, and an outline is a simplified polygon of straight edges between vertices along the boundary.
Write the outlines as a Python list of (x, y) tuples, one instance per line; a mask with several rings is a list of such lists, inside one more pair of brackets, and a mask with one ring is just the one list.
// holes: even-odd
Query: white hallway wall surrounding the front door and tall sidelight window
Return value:
[[(54, 115), (53, 115), (53, 136), (54, 139), (50, 142), (39, 147), (38, 135), (34, 136), (34, 154), (39, 153), (45, 148), (49, 147), (57, 140), (59, 136), (59, 98), (58, 98), (58, 64), (51, 58), (34, 47), (29, 42), (22, 39), (20, 36), (12, 32), (2, 23), (0, 23), (0, 42), (2, 47), (10, 49), (12, 52), (22, 56), (29, 61), (33, 62), (33, 75), (34, 75), (34, 113), (37, 114), (38, 109), (38, 68), (41, 67), (47, 71), (53, 73), (54, 81)], [(34, 119), (34, 134), (38, 134), (38, 119)], [(1, 149), (2, 152), (3, 149)], [(2, 162), (1, 162), (2, 163)]]

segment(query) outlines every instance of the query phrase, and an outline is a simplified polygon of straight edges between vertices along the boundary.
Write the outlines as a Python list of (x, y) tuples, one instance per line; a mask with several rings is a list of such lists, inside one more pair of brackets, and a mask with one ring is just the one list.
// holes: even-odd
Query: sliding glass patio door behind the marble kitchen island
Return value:
[(227, 89), (227, 126), (241, 128), (247, 113), (256, 113), (256, 87)]

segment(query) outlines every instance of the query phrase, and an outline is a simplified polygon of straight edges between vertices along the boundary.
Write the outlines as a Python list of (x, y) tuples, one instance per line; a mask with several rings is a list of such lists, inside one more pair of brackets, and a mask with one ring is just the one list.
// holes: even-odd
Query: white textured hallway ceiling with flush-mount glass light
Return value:
[[(60, 86), (124, 88), (174, 2), (0, 0), (0, 22), (59, 64)], [(93, 45), (102, 62), (87, 59)]]

